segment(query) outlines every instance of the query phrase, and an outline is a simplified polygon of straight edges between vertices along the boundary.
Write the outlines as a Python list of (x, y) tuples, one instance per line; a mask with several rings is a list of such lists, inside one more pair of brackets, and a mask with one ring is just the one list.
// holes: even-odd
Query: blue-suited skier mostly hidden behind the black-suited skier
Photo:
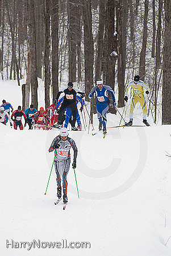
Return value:
[[(56, 105), (56, 109), (59, 108), (59, 106), (62, 104), (62, 102), (64, 101), (64, 97), (62, 97), (59, 102), (57, 103)], [(76, 95), (76, 106), (78, 104), (78, 102), (80, 101), (81, 103), (81, 108), (80, 108), (80, 111), (82, 112), (82, 109), (84, 108), (84, 106), (86, 106), (85, 104), (85, 101), (83, 98), (81, 98), (80, 96)], [(74, 123), (72, 122), (72, 119), (70, 119), (72, 117), (72, 112), (70, 110), (70, 108), (66, 108), (66, 113), (65, 113), (65, 124), (64, 124), (64, 127), (68, 127), (68, 123), (70, 122), (71, 125), (72, 125), (72, 130), (73, 130), (73, 127), (74, 127)], [(77, 120), (77, 130), (80, 130), (81, 131), (81, 120), (80, 120), (80, 115), (78, 113), (78, 108), (77, 108), (77, 114), (76, 114), (76, 120)], [(76, 127), (75, 127), (76, 128)], [(76, 130), (76, 129), (74, 129)]]

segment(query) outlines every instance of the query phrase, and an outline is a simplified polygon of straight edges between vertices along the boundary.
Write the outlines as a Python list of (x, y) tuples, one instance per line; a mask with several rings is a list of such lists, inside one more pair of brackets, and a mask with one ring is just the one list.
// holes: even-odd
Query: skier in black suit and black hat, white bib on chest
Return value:
[[(58, 121), (57, 125), (55, 127), (61, 128), (62, 127), (62, 115), (65, 112), (66, 108), (70, 108), (72, 115), (73, 115), (73, 130), (76, 128), (75, 123), (76, 123), (76, 115), (77, 115), (77, 106), (76, 106), (76, 94), (79, 93), (81, 94), (81, 98), (85, 96), (84, 92), (80, 92), (78, 88), (73, 87), (72, 82), (68, 82), (68, 86), (63, 88), (56, 97), (55, 104), (57, 105), (57, 101), (60, 97), (60, 94), (64, 92), (64, 101), (61, 104), (61, 108), (59, 110), (59, 116), (58, 116)], [(75, 129), (77, 130), (77, 128)]]

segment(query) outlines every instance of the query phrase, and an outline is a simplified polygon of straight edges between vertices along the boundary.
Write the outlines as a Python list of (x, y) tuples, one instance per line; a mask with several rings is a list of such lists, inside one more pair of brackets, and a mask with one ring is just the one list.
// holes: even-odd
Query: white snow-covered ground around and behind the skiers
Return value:
[[(1, 81), (0, 93), (14, 109), (22, 105), (16, 82)], [(39, 99), (43, 105), (41, 86)], [(129, 106), (126, 121), (128, 114)], [(141, 115), (137, 106), (134, 125), (142, 125)], [(107, 119), (111, 127), (120, 116), (109, 113)], [(78, 147), (80, 199), (70, 168), (65, 210), (61, 202), (54, 205), (54, 170), (44, 195), (54, 156), (48, 148), (59, 131), (20, 131), (0, 123), (1, 255), (170, 256), (171, 162), (165, 151), (171, 153), (171, 127), (148, 121), (151, 127), (108, 129), (105, 139), (101, 133), (69, 131)], [(81, 242), (89, 242), (87, 248)]]

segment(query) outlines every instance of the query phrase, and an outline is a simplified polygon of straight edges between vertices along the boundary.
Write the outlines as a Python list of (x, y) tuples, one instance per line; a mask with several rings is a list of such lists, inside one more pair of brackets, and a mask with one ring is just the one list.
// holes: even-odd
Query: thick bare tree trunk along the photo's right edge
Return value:
[(164, 57), (162, 75), (162, 124), (171, 125), (171, 2), (164, 0)]

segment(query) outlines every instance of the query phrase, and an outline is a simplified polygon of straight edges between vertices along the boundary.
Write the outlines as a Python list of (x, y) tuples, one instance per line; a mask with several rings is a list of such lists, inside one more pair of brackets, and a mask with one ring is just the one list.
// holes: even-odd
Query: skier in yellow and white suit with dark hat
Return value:
[(127, 102), (128, 101), (128, 96), (127, 96), (127, 92), (128, 89), (132, 87), (133, 89), (133, 96), (132, 96), (132, 101), (131, 101), (131, 107), (130, 107), (130, 122), (126, 123), (126, 126), (131, 126), (132, 125), (132, 121), (133, 121), (133, 112), (134, 112), (134, 108), (135, 105), (137, 104), (137, 102), (140, 102), (141, 104), (141, 108), (143, 109), (143, 123), (145, 123), (145, 125), (149, 126), (149, 123), (147, 122), (147, 108), (145, 105), (145, 97), (144, 97), (144, 89), (145, 89), (145, 93), (148, 94), (149, 93), (149, 87), (145, 84), (145, 82), (140, 80), (140, 77), (137, 75), (134, 77), (134, 80), (129, 82), (126, 86), (125, 89), (125, 96), (124, 96), (124, 100)]

